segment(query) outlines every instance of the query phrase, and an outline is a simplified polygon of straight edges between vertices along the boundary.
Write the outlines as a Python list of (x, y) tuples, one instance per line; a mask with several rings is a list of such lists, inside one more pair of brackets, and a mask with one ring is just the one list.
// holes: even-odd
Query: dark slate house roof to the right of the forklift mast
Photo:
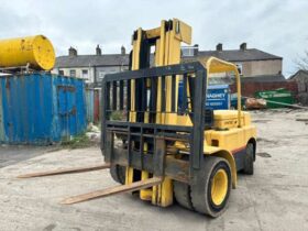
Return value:
[(279, 56), (262, 52), (257, 48), (248, 50), (222, 50), (222, 51), (199, 51), (199, 57), (215, 56), (229, 62), (245, 62), (245, 61), (270, 61), (283, 59)]

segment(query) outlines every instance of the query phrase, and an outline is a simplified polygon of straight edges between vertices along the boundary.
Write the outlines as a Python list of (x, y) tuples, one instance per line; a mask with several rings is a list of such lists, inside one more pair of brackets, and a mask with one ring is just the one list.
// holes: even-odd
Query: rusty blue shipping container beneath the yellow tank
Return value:
[(87, 128), (85, 82), (51, 74), (0, 77), (0, 143), (51, 144)]

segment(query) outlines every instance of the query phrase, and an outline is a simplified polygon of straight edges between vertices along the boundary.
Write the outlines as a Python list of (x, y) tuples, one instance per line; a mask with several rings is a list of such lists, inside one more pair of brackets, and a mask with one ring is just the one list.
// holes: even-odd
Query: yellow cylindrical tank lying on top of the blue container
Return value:
[(0, 40), (0, 67), (26, 66), (50, 70), (55, 65), (55, 51), (44, 35)]

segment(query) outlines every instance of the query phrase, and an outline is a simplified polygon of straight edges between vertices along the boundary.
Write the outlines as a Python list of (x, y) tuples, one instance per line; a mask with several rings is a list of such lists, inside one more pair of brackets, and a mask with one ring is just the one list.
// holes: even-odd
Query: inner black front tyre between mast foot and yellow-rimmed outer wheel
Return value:
[(190, 186), (188, 184), (174, 180), (174, 196), (182, 207), (194, 210), (190, 197)]

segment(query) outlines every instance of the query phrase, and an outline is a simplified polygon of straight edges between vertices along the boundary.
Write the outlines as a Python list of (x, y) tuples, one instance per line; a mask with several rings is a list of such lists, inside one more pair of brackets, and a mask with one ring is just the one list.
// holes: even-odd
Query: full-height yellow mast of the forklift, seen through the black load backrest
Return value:
[[(180, 43), (185, 42), (190, 44), (191, 42), (191, 28), (179, 20), (162, 21), (161, 26), (152, 30), (144, 31), (142, 29), (136, 30), (133, 33), (133, 51), (132, 51), (132, 70), (143, 69), (151, 67), (151, 63), (154, 67), (167, 66), (172, 64), (180, 63)], [(154, 48), (154, 50), (153, 50)], [(151, 51), (154, 51), (154, 59), (151, 58)], [(154, 64), (153, 64), (154, 63)], [(174, 81), (174, 88), (172, 90), (172, 78)], [(131, 108), (135, 108), (135, 111), (130, 111), (130, 122), (155, 122), (158, 124), (172, 124), (172, 121), (176, 121), (174, 113), (163, 113), (163, 111), (172, 111), (172, 97), (174, 109), (177, 108), (177, 95), (178, 95), (178, 76), (165, 76), (164, 79), (160, 77), (157, 79), (157, 96), (154, 100), (156, 103), (156, 113), (147, 111), (147, 87), (151, 87), (151, 81), (146, 79), (132, 80), (131, 82)], [(154, 87), (154, 86), (153, 86)], [(161, 89), (164, 89), (163, 91)], [(161, 94), (162, 92), (162, 94)], [(166, 103), (162, 102), (162, 99), (166, 99)], [(141, 113), (139, 111), (142, 111)], [(143, 111), (147, 111), (143, 113)], [(143, 151), (146, 152), (150, 146), (146, 142), (143, 143)], [(147, 172), (141, 173), (141, 179), (148, 178)], [(133, 182), (133, 168), (127, 169), (127, 184)], [(143, 200), (152, 200), (153, 204), (160, 204), (162, 206), (169, 206), (173, 204), (173, 189), (172, 182), (167, 177), (164, 179), (161, 186), (154, 186), (153, 189), (143, 189), (140, 191), (140, 197)]]

